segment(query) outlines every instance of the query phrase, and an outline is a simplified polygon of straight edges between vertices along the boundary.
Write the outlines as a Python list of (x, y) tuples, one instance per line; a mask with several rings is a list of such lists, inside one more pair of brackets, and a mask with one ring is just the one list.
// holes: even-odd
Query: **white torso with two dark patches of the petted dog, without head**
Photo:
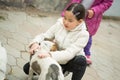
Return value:
[(32, 70), (40, 75), (38, 80), (64, 80), (61, 66), (51, 57), (39, 58), (36, 52), (31, 59)]

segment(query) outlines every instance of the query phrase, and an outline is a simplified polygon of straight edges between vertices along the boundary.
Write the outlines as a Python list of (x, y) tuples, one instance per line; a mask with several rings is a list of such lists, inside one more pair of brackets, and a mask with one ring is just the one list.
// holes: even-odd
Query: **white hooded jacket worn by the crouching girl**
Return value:
[(73, 30), (67, 31), (63, 25), (63, 18), (60, 18), (48, 31), (36, 36), (31, 44), (33, 42), (40, 43), (45, 38), (54, 39), (58, 44), (58, 51), (50, 52), (52, 58), (60, 64), (66, 64), (76, 55), (83, 54), (89, 33), (84, 21)]

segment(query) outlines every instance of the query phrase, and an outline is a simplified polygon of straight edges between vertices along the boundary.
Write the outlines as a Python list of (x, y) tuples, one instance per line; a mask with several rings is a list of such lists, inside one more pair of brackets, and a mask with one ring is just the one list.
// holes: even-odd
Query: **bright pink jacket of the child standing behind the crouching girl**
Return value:
[[(81, 3), (81, 1), (82, 0), (70, 0), (70, 3), (67, 5), (67, 7), (71, 3)], [(113, 0), (95, 0), (93, 2), (91, 9), (94, 11), (94, 16), (92, 18), (88, 18), (88, 17), (85, 18), (85, 22), (91, 36), (95, 35), (95, 33), (97, 32), (103, 13), (108, 8), (110, 8), (112, 3), (113, 3)], [(62, 16), (64, 16), (64, 11), (62, 12)]]

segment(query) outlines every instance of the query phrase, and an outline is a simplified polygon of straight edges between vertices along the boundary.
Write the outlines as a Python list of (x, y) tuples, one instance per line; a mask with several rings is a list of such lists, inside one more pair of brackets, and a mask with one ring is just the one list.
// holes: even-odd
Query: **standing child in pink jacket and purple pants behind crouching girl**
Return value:
[[(82, 3), (86, 9), (86, 17), (85, 22), (89, 31), (89, 41), (84, 48), (84, 52), (87, 59), (87, 64), (91, 64), (92, 61), (90, 59), (91, 53), (90, 48), (92, 45), (92, 36), (96, 34), (99, 24), (102, 19), (103, 13), (110, 8), (113, 3), (113, 0), (70, 0), (69, 6), (71, 3)], [(67, 7), (66, 7), (67, 8)], [(65, 8), (65, 10), (66, 10)], [(64, 11), (62, 12), (62, 16), (64, 16)]]

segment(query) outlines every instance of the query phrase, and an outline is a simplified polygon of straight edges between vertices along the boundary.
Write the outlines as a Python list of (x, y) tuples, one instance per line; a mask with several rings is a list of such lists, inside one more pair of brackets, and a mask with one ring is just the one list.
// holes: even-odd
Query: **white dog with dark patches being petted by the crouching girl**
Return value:
[(64, 80), (61, 66), (51, 57), (39, 58), (38, 54), (54, 51), (55, 43), (43, 41), (38, 50), (31, 58), (28, 80), (32, 80), (33, 73), (39, 75), (38, 80)]

